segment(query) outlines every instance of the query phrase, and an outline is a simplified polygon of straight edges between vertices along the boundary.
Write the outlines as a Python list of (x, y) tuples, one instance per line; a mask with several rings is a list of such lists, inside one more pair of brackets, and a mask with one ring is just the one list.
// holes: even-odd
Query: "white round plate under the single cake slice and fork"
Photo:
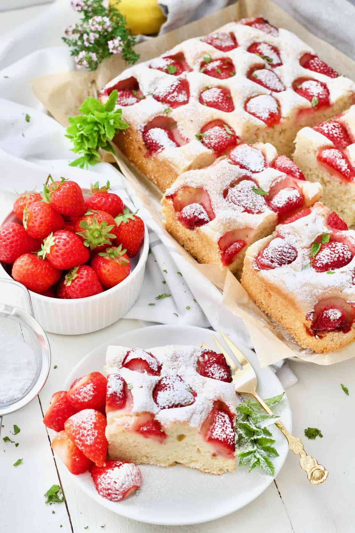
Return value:
[[(153, 348), (166, 344), (186, 344), (200, 346), (204, 341), (212, 349), (211, 331), (192, 326), (148, 326), (112, 338), (98, 346), (84, 357), (72, 370), (65, 382), (68, 390), (77, 377), (94, 370), (102, 371), (105, 352), (110, 344), (130, 348)], [(262, 398), (271, 398), (283, 392), (283, 387), (275, 374), (268, 368), (260, 368), (257, 356), (251, 350), (241, 347), (241, 351), (251, 361), (258, 376), (258, 392)], [(275, 406), (275, 413), (281, 416), (288, 431), (292, 431), (292, 415), (286, 395)], [(278, 474), (287, 456), (288, 445), (285, 437), (275, 427), (269, 428), (276, 439), (275, 447), (279, 457), (274, 459), (275, 475)], [(238, 459), (237, 459), (238, 461)], [(111, 502), (97, 494), (88, 472), (73, 475), (84, 492), (114, 513), (134, 520), (152, 524), (171, 526), (208, 522), (237, 511), (257, 498), (273, 481), (261, 470), (248, 473), (247, 467), (236, 467), (234, 473), (223, 475), (205, 474), (181, 465), (162, 468), (153, 465), (139, 465), (143, 484), (139, 495), (131, 496), (122, 502)]]

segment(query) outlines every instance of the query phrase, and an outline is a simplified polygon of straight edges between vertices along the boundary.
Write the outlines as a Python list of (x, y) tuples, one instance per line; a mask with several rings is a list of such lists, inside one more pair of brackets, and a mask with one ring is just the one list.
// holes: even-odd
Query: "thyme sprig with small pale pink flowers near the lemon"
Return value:
[(96, 70), (112, 54), (122, 54), (130, 64), (138, 60), (133, 49), (135, 37), (116, 7), (106, 9), (101, 0), (71, 0), (71, 6), (81, 14), (81, 20), (66, 28), (62, 39), (70, 47), (77, 68)]

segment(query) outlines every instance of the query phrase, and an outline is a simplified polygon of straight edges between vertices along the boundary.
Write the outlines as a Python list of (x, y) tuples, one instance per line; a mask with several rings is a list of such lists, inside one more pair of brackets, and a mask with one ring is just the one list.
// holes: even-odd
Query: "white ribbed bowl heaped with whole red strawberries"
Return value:
[(0, 277), (31, 294), (51, 333), (78, 335), (125, 316), (141, 291), (148, 233), (110, 183), (82, 190), (73, 180), (26, 191), (0, 226)]

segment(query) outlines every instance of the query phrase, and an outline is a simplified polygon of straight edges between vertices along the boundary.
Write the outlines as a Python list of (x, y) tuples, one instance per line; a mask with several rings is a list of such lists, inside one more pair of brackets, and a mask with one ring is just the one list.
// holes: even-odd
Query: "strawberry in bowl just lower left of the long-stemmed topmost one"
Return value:
[(23, 227), (30, 237), (44, 239), (52, 231), (61, 230), (64, 220), (44, 201), (36, 201), (23, 209)]

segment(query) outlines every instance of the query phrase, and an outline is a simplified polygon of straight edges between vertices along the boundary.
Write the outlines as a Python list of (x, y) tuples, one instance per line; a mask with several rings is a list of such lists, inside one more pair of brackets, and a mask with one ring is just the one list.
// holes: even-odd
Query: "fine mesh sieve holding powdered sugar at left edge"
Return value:
[[(24, 311), (19, 306), (0, 303), (0, 358), (3, 358), (4, 365), (11, 358), (15, 378), (12, 379), (11, 383), (18, 386), (18, 390), (16, 390), (16, 386), (13, 390), (5, 390), (4, 385), (0, 388), (0, 423), (3, 415), (13, 413), (36, 397), (44, 386), (51, 367), (51, 350), (48, 339), (34, 318), (31, 298), (26, 287), (12, 279), (0, 279), (0, 302), (5, 298), (6, 301), (9, 301), (9, 294), (13, 300), (15, 292), (19, 290), (22, 295), (21, 308), (23, 307), (23, 297), (25, 297), (29, 312)], [(23, 366), (20, 359), (23, 353), (29, 355), (26, 362), (28, 375), (24, 377), (20, 375), (19, 370)], [(21, 390), (21, 385), (25, 387), (23, 390)]]

